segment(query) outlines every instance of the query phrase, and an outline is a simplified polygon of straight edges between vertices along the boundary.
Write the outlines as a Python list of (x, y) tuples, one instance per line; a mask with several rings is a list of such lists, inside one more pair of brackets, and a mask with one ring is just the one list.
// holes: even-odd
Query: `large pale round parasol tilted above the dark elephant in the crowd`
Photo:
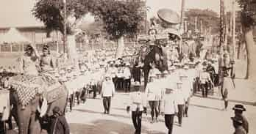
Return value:
[(168, 24), (178, 24), (180, 23), (180, 18), (177, 12), (169, 9), (161, 9), (157, 12), (158, 17), (168, 23)]

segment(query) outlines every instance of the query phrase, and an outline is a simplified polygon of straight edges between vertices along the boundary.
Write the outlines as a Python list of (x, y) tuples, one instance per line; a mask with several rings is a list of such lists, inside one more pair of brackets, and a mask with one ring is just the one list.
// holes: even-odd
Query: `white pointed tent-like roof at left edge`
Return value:
[(26, 37), (24, 37), (17, 29), (11, 28), (6, 34), (0, 36), (0, 44), (3, 43), (31, 43)]

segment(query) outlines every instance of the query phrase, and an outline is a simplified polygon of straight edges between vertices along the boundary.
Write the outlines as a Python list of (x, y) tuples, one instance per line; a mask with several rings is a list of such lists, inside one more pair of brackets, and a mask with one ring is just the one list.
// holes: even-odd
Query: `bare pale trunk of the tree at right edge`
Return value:
[(256, 45), (253, 40), (252, 27), (244, 31), (247, 52), (247, 72), (246, 79), (256, 81)]

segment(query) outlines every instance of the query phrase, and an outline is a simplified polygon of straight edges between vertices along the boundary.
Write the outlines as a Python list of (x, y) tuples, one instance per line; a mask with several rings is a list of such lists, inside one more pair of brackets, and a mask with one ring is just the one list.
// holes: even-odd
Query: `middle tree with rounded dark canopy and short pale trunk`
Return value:
[(115, 58), (124, 51), (124, 37), (134, 37), (142, 29), (145, 11), (142, 1), (101, 0), (91, 12), (104, 23), (104, 29), (111, 40), (116, 40), (118, 48)]

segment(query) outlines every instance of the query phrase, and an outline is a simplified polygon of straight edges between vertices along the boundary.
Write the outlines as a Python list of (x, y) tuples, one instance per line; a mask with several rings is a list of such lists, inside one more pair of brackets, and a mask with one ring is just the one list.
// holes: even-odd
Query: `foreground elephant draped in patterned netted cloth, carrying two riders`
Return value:
[[(65, 113), (68, 90), (50, 75), (16, 75), (10, 80), (10, 100), (18, 133), (41, 133), (49, 129), (52, 109), (58, 106)], [(47, 130), (49, 132), (49, 130)]]

